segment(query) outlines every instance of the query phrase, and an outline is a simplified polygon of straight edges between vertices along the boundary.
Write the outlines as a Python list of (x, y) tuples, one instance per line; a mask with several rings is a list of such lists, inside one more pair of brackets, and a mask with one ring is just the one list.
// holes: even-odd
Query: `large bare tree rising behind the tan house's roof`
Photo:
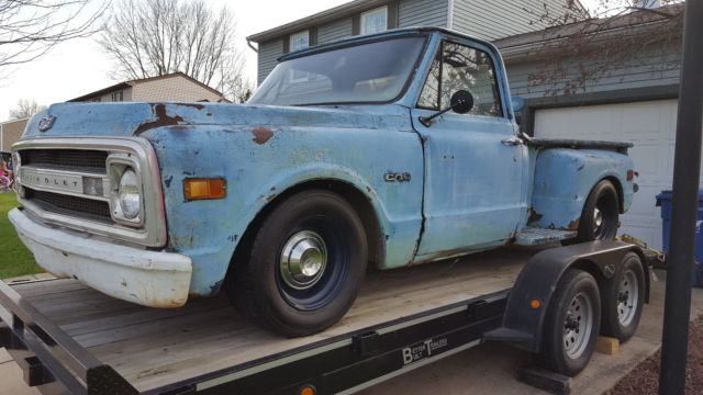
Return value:
[(181, 71), (235, 99), (250, 89), (235, 45), (232, 11), (202, 0), (122, 0), (99, 43), (116, 63), (115, 79)]

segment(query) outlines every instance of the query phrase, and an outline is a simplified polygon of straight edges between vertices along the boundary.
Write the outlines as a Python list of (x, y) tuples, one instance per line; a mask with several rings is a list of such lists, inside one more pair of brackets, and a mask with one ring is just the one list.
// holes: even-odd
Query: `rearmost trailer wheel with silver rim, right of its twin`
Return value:
[(645, 293), (645, 271), (639, 256), (628, 252), (615, 275), (603, 283), (603, 324), (601, 332), (629, 340), (641, 317)]

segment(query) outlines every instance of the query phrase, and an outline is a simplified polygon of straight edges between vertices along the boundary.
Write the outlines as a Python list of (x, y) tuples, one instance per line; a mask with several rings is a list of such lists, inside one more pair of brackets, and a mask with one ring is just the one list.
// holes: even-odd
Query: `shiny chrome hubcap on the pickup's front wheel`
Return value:
[(302, 230), (291, 236), (281, 251), (280, 271), (283, 282), (295, 290), (317, 283), (327, 266), (327, 248), (320, 235)]

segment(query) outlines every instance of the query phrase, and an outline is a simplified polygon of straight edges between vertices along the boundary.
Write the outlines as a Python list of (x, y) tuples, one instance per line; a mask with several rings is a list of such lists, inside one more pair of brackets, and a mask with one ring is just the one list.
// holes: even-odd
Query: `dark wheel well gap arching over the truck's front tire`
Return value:
[[(239, 259), (244, 259), (246, 251), (249, 250), (252, 246), (254, 236), (256, 230), (261, 225), (261, 222), (269, 215), (269, 213), (281, 202), (287, 200), (288, 198), (300, 193), (302, 191), (312, 190), (312, 189), (322, 189), (335, 192), (344, 198), (350, 205), (354, 207), (356, 213), (359, 215), (361, 223), (364, 224), (364, 228), (366, 230), (366, 238), (369, 247), (369, 262), (371, 264), (376, 264), (381, 259), (383, 240), (381, 237), (381, 227), (376, 216), (376, 211), (371, 205), (371, 202), (368, 198), (361, 193), (356, 187), (352, 185), (348, 182), (339, 181), (339, 180), (311, 180), (303, 183), (299, 183), (283, 191), (282, 193), (276, 195), (261, 211), (256, 214), (256, 217), (246, 232), (242, 236), (242, 241), (237, 245), (237, 248), (234, 251), (232, 260), (230, 262), (230, 271)], [(227, 274), (228, 276), (228, 274)]]

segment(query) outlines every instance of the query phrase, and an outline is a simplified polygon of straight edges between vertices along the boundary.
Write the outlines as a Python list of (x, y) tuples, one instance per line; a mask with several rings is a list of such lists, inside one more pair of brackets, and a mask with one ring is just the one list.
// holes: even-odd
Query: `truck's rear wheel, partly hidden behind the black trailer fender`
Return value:
[(611, 181), (602, 180), (589, 193), (579, 219), (574, 242), (614, 240), (617, 235), (620, 203)]

